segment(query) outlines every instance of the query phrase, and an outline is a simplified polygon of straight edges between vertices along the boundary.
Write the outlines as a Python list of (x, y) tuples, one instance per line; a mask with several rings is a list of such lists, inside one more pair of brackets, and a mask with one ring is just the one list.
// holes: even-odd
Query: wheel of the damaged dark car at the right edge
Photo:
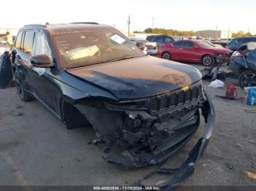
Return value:
[(241, 87), (256, 86), (256, 71), (246, 70), (239, 75), (239, 84)]

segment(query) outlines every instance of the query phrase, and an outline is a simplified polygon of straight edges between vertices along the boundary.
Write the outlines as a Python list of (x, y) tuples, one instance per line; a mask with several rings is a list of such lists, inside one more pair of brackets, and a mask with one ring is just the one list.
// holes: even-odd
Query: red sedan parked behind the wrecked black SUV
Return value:
[(232, 50), (211, 46), (203, 40), (181, 40), (160, 45), (157, 56), (174, 61), (189, 61), (211, 66), (217, 57), (229, 61)]

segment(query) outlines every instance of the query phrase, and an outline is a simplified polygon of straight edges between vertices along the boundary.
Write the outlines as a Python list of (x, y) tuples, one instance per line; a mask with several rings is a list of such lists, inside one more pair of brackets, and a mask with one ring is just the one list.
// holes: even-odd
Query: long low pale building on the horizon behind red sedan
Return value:
[(205, 39), (230, 39), (232, 38), (232, 31), (204, 30), (196, 31), (195, 35)]

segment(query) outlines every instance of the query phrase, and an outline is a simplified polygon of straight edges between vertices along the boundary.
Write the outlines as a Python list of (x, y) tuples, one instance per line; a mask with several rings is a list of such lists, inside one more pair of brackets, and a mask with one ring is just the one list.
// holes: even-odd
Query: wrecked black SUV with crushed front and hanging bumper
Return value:
[(206, 130), (181, 168), (188, 176), (211, 137), (214, 108), (200, 71), (144, 55), (110, 26), (24, 26), (12, 64), (23, 101), (36, 98), (67, 128), (91, 125), (105, 152), (124, 148), (104, 157), (123, 168), (163, 163), (192, 138), (201, 111)]

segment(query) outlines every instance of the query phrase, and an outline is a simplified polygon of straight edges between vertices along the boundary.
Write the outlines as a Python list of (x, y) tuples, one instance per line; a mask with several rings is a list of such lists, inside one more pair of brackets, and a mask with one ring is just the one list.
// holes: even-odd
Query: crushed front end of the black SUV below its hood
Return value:
[(201, 81), (151, 98), (89, 103), (77, 104), (77, 108), (94, 127), (97, 140), (105, 141), (108, 149), (113, 144), (124, 148), (124, 152), (104, 157), (122, 168), (165, 162), (192, 138), (200, 125), (200, 111), (206, 130), (196, 159), (214, 129), (214, 107)]

